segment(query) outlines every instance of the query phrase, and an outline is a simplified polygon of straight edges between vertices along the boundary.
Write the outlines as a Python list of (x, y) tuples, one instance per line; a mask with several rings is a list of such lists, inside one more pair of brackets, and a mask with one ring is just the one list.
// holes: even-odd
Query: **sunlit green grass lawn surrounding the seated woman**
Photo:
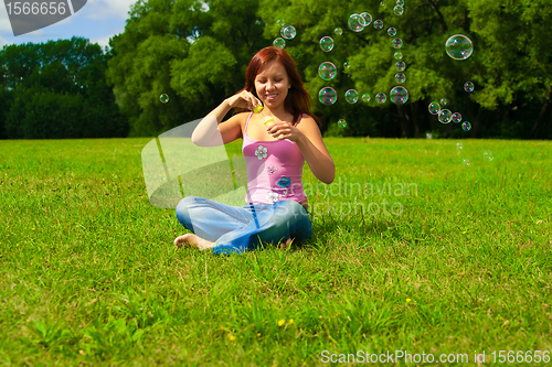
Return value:
[(551, 142), (329, 138), (341, 191), (309, 196), (315, 237), (216, 257), (172, 245), (185, 231), (148, 202), (149, 141), (0, 141), (0, 365), (552, 352)]

